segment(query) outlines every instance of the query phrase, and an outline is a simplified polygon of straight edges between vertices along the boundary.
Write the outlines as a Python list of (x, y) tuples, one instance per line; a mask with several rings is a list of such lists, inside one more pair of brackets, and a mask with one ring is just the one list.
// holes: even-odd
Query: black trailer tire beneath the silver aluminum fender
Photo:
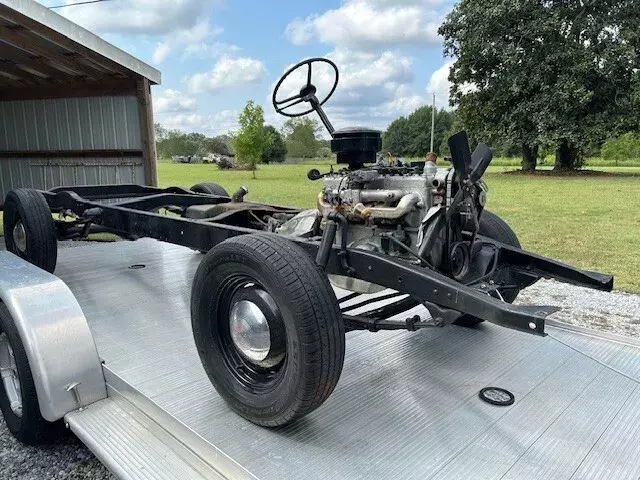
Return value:
[[(40, 414), (36, 386), (20, 334), (6, 306), (0, 303), (0, 365), (6, 367), (11, 352), (19, 388), (0, 379), (0, 410), (11, 434), (25, 445), (53, 443), (67, 435), (62, 421), (48, 422)], [(9, 349), (7, 349), (7, 346)], [(15, 377), (14, 377), (15, 378)], [(9, 389), (11, 389), (9, 391)], [(9, 393), (10, 392), (10, 393)], [(19, 399), (19, 405), (16, 400)]]

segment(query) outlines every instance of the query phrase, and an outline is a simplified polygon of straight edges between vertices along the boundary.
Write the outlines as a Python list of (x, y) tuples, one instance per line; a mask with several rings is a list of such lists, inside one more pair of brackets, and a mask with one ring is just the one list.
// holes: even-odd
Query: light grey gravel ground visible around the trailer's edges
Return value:
[[(80, 246), (82, 242), (70, 243)], [(0, 249), (4, 241), (0, 238)], [(540, 281), (517, 300), (523, 304), (557, 305), (563, 311), (551, 318), (573, 325), (640, 339), (640, 295), (605, 293)], [(72, 434), (62, 444), (25, 447), (9, 434), (0, 416), (0, 479), (113, 479), (114, 477)]]

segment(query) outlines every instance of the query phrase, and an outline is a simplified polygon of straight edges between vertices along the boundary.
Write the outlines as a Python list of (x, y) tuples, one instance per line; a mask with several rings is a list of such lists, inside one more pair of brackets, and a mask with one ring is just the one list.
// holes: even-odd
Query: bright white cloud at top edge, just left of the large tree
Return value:
[(317, 38), (358, 49), (438, 44), (444, 12), (433, 7), (442, 4), (439, 0), (348, 0), (337, 9), (293, 20), (285, 35), (295, 45)]

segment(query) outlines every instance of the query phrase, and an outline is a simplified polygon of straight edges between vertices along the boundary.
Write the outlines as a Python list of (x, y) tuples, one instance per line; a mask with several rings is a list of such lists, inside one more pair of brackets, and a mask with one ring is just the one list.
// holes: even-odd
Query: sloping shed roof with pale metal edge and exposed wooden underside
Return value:
[(33, 0), (0, 0), (0, 88), (147, 78), (158, 70)]

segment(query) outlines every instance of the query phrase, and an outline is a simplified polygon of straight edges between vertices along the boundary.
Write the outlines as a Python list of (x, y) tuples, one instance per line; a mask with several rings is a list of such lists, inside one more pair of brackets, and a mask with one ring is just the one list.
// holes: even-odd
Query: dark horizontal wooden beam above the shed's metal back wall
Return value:
[[(24, 85), (24, 84), (23, 84)], [(67, 84), (17, 86), (0, 90), (0, 101), (43, 100), (48, 98), (120, 97), (137, 94), (133, 80), (86, 81)]]

